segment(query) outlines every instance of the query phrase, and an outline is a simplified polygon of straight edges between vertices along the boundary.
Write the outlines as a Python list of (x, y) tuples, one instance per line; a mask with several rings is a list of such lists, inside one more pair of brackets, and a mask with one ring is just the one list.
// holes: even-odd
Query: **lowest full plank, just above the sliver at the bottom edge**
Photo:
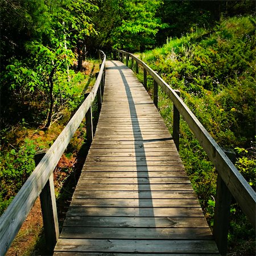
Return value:
[(90, 240), (60, 238), (56, 251), (97, 251), (127, 253), (217, 253), (214, 241), (205, 240)]

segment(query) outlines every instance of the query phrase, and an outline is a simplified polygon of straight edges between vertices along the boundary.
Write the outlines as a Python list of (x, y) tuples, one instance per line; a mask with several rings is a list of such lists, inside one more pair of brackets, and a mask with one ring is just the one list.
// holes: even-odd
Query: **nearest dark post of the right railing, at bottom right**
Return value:
[[(228, 158), (234, 163), (236, 162), (236, 153), (222, 150)], [(229, 231), (229, 214), (232, 194), (228, 187), (218, 174), (217, 177), (217, 195), (214, 209), (213, 236), (221, 255), (226, 255), (228, 249), (228, 231)]]

